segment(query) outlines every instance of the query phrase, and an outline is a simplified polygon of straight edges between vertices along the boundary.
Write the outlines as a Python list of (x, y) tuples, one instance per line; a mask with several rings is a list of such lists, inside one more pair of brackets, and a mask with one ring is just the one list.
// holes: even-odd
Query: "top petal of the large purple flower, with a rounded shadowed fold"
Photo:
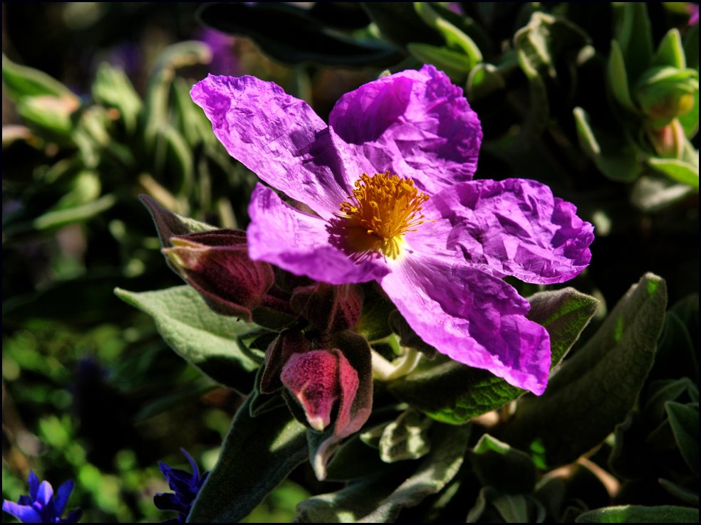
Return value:
[(469, 181), (477, 169), (482, 126), (462, 90), (432, 65), (407, 70), (343, 95), (329, 126), (344, 164), (360, 173), (411, 177), (429, 195)]

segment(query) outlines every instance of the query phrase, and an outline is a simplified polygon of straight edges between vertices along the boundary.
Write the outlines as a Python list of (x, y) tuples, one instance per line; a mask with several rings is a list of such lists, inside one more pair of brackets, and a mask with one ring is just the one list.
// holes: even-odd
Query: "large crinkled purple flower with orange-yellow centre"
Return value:
[(342, 284), (377, 280), (412, 329), (452, 359), (544, 391), (546, 330), (502, 277), (564, 282), (589, 263), (591, 224), (536, 181), (472, 180), (482, 127), (432, 65), (346, 93), (328, 125), (254, 77), (209, 75), (191, 92), (259, 184), (249, 255)]

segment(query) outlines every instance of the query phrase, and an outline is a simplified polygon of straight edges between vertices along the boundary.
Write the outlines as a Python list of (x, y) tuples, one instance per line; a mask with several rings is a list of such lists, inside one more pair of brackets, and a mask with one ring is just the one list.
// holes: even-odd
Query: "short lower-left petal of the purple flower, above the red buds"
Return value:
[(378, 279), (389, 270), (381, 258), (355, 261), (332, 245), (331, 225), (281, 201), (259, 184), (249, 205), (249, 255), (296, 275), (342, 285)]

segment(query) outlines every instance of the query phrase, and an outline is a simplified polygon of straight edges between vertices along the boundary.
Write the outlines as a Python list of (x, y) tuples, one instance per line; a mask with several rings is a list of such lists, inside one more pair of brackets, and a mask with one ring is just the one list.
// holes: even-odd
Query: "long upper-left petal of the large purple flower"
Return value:
[(251, 76), (209, 75), (190, 95), (227, 152), (262, 180), (326, 218), (346, 200), (326, 123), (306, 102)]

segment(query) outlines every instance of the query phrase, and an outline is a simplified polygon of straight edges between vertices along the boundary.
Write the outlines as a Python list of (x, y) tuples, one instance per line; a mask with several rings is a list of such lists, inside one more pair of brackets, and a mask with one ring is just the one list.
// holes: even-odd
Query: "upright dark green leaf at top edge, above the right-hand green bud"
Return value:
[(617, 2), (613, 4), (613, 9), (616, 15), (616, 41), (623, 53), (628, 81), (635, 84), (650, 66), (653, 57), (648, 6), (644, 2)]

